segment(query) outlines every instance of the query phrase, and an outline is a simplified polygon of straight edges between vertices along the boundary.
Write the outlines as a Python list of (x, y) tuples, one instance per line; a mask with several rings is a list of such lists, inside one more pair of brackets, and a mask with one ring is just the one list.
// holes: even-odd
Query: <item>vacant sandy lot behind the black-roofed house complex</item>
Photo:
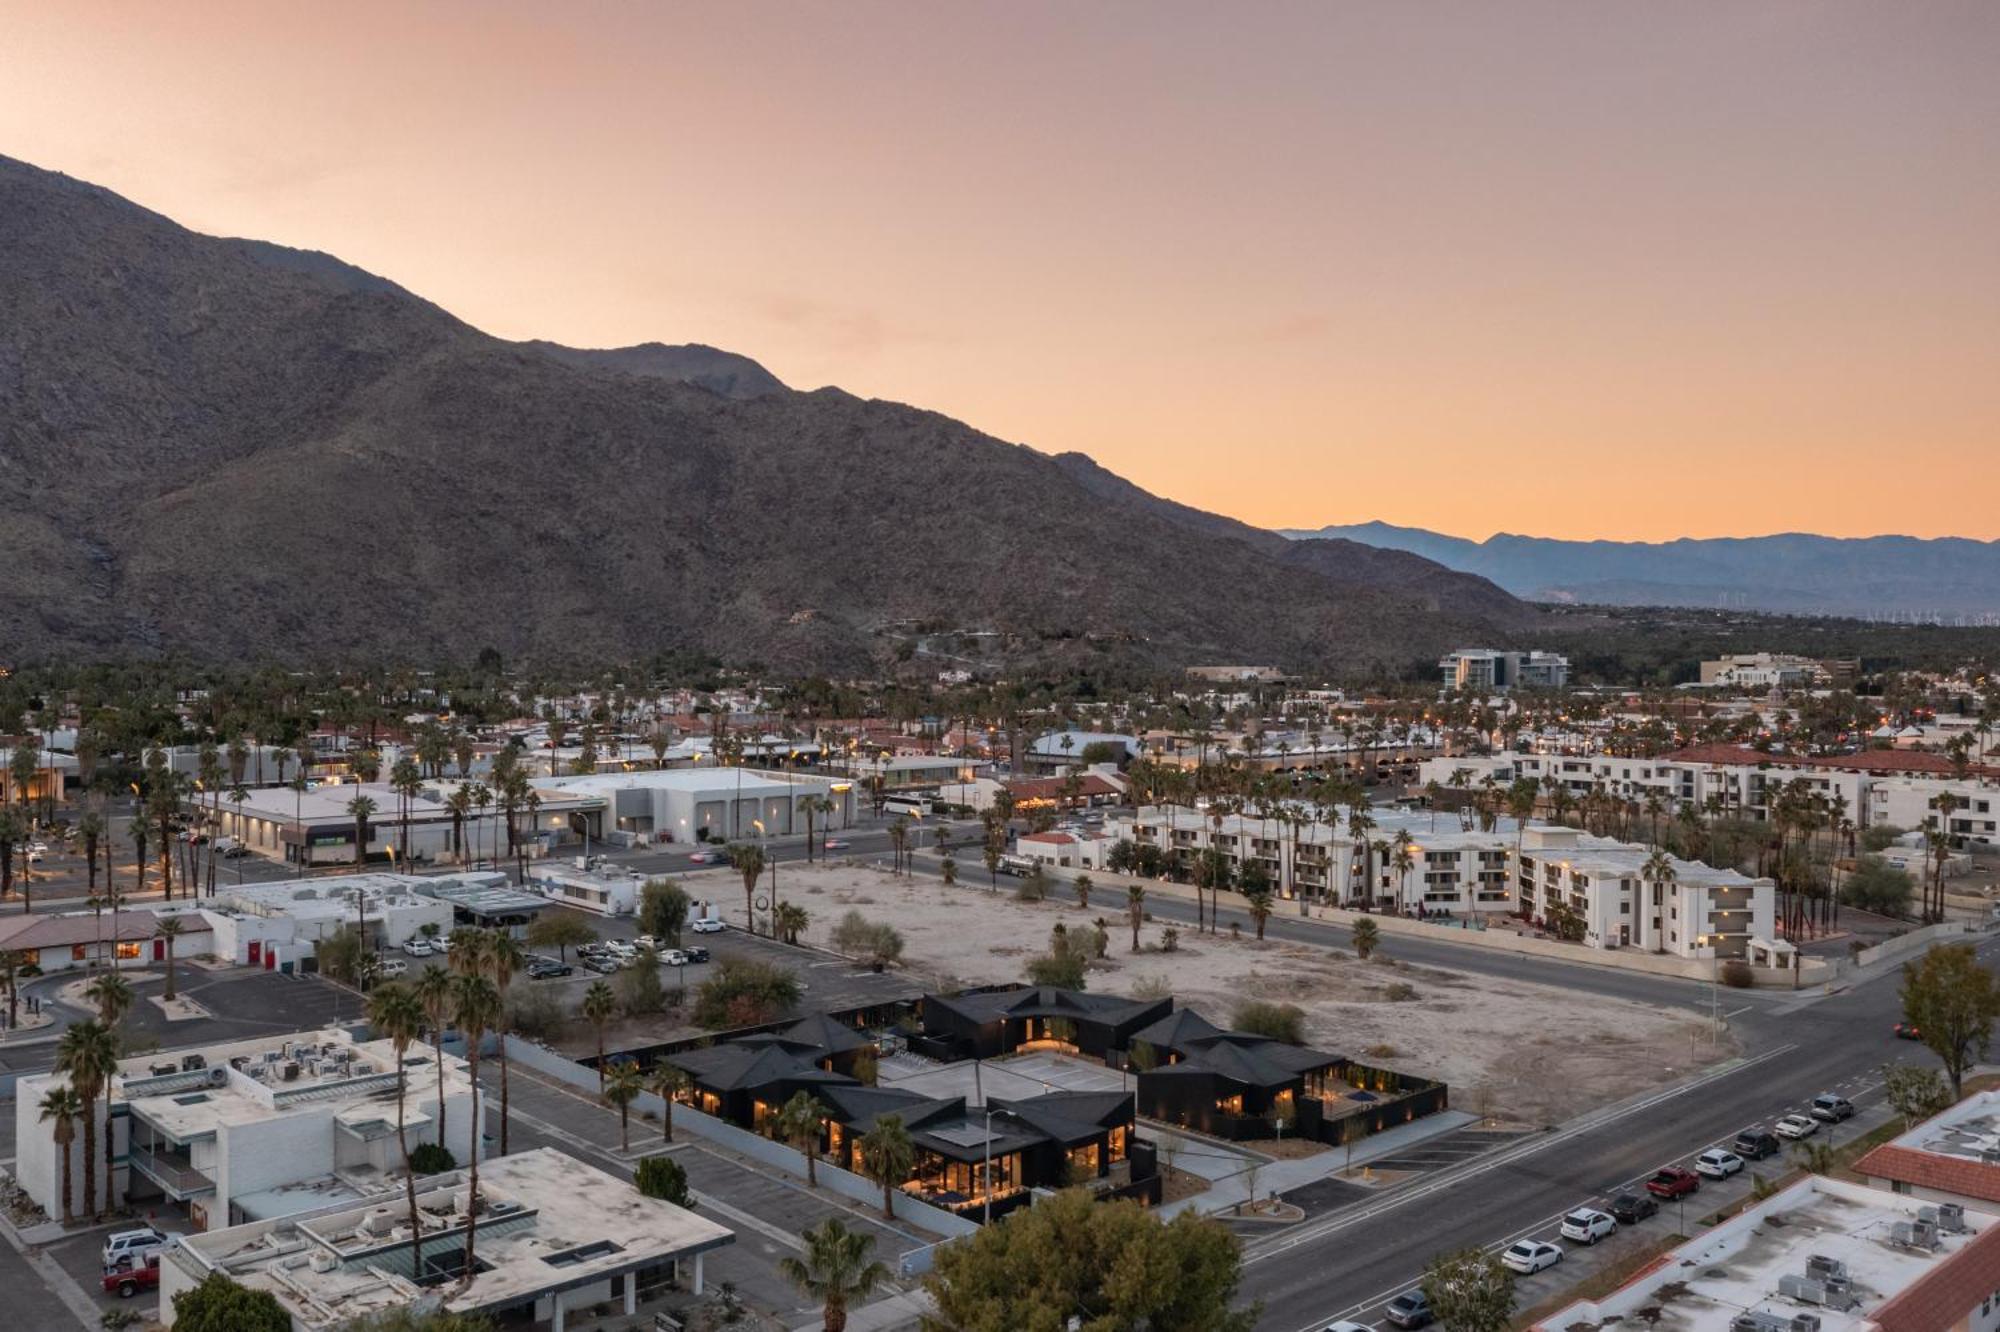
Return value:
[[(1560, 1124), (1732, 1054), (1710, 1046), (1700, 1022), (1646, 1004), (1470, 972), (1360, 962), (1310, 944), (1198, 936), (1182, 928), (1180, 948), (1160, 952), (1164, 924), (1146, 922), (1144, 952), (1132, 954), (1124, 902), (1108, 896), (1086, 914), (1064, 902), (1016, 902), (1018, 880), (1002, 880), (998, 892), (988, 892), (984, 876), (946, 888), (934, 878), (894, 878), (868, 866), (786, 866), (786, 874), (784, 896), (812, 916), (810, 942), (824, 946), (852, 906), (902, 930), (906, 968), (930, 980), (1018, 982), (1026, 962), (1046, 952), (1058, 920), (1074, 932), (1102, 916), (1110, 954), (1090, 972), (1092, 990), (1170, 992), (1218, 1024), (1228, 1024), (1246, 998), (1298, 1004), (1310, 1044), (1442, 1078), (1454, 1108), (1524, 1124)], [(1394, 950), (1394, 940), (1386, 942)], [(1388, 998), (1398, 982), (1414, 998)], [(1394, 1054), (1378, 1052), (1382, 1046)]]

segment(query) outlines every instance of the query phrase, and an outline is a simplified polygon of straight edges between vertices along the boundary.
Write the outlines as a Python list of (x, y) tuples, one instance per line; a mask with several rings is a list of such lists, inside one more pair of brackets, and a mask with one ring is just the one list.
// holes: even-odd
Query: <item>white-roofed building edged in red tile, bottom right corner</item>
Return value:
[(1534, 1324), (1684, 1332), (1992, 1332), (2000, 1218), (1808, 1174)]

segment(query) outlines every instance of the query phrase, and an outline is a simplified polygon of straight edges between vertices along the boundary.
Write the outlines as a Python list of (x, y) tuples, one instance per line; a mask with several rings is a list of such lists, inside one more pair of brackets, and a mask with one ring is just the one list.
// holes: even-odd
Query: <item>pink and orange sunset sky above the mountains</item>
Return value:
[(0, 0), (0, 154), (1260, 524), (2000, 536), (1994, 0)]

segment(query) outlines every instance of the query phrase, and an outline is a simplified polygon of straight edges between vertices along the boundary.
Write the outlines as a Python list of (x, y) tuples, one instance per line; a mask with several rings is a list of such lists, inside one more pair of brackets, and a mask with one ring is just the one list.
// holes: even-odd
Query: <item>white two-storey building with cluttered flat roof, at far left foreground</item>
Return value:
[[(38, 1106), (60, 1082), (52, 1072), (24, 1074), (14, 1088), (16, 1178), (50, 1216), (62, 1214), (62, 1154)], [(410, 1146), (440, 1142), (442, 1132), (460, 1162), (484, 1150), (472, 1082), (452, 1054), (444, 1056), (442, 1130), (438, 1116), (438, 1062), (418, 1044), (408, 1054), (404, 1104)], [(98, 1100), (92, 1132), (100, 1142), (104, 1122)], [(112, 1198), (184, 1206), (196, 1230), (360, 1198), (402, 1174), (394, 1046), (344, 1028), (128, 1058), (112, 1078), (110, 1124)], [(70, 1144), (78, 1202), (82, 1180), (78, 1132)]]

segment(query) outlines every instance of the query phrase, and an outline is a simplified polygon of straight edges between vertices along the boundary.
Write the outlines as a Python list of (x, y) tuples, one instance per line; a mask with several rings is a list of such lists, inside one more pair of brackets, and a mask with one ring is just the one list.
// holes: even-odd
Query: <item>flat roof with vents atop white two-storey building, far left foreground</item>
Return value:
[[(436, 1090), (436, 1054), (410, 1046), (410, 1078)], [(472, 1090), (466, 1062), (444, 1056), (444, 1094)], [(354, 1040), (344, 1028), (258, 1036), (194, 1050), (138, 1054), (120, 1060), (116, 1094), (134, 1116), (176, 1142), (206, 1138), (230, 1124), (254, 1124), (300, 1110), (334, 1110), (334, 1120), (362, 1138), (394, 1132), (396, 1048), (388, 1040)], [(406, 1120), (426, 1122), (424, 1096), (410, 1096)]]

